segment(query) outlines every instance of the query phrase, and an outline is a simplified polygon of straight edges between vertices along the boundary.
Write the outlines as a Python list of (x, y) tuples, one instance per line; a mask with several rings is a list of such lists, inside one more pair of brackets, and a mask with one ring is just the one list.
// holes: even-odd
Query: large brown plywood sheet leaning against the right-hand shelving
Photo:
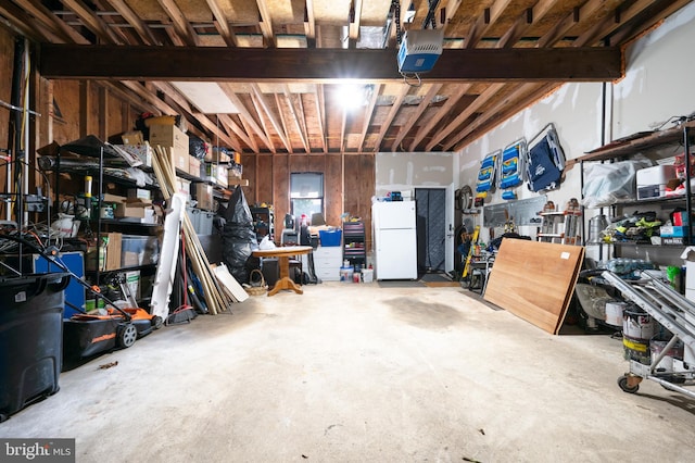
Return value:
[(484, 299), (556, 335), (583, 258), (581, 246), (504, 239)]

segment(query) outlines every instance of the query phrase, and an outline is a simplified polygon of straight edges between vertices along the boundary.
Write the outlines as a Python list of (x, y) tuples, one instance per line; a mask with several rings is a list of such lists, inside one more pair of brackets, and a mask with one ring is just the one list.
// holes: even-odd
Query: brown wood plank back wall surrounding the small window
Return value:
[(324, 174), (326, 223), (341, 226), (341, 215), (365, 222), (367, 251), (371, 249), (371, 197), (375, 193), (375, 154), (242, 154), (243, 187), (249, 205), (273, 204), (276, 239), (290, 210), (290, 174)]

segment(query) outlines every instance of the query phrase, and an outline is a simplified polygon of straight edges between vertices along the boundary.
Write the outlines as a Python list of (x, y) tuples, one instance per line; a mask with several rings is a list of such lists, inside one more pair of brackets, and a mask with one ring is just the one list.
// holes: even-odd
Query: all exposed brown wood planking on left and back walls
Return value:
[[(0, 27), (0, 68), (9, 70), (0, 78), (0, 99), (10, 102), (14, 36)], [(138, 111), (109, 92), (98, 82), (46, 80), (37, 77), (35, 86), (41, 117), (35, 121), (36, 136), (29, 154), (55, 141), (64, 145), (86, 135), (119, 142), (119, 134), (131, 130)], [(55, 103), (55, 107), (53, 105)], [(9, 137), (10, 111), (0, 107), (0, 147)], [(250, 205), (273, 204), (276, 212), (276, 234), (282, 229), (282, 220), (290, 210), (290, 174), (318, 172), (324, 174), (326, 222), (340, 226), (345, 212), (362, 217), (367, 230), (367, 250), (371, 249), (371, 196), (375, 192), (375, 154), (243, 154), (243, 187)], [(4, 170), (2, 170), (4, 171)], [(4, 185), (4, 172), (0, 179)], [(76, 187), (81, 183), (75, 183)], [(62, 185), (66, 185), (63, 183)]]

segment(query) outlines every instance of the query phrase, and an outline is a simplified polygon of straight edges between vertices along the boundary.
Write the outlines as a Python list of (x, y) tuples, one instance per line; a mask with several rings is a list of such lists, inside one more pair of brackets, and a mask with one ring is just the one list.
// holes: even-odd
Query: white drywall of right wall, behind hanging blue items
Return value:
[[(606, 84), (608, 142), (627, 135), (650, 130), (671, 116), (695, 111), (695, 3), (691, 3), (626, 50), (626, 76)], [(475, 190), (480, 161), (489, 152), (514, 140), (530, 140), (547, 123), (554, 123), (567, 159), (583, 155), (602, 145), (603, 84), (567, 84), (542, 101), (516, 114), (458, 153), (456, 187), (470, 185)], [(665, 127), (671, 127), (667, 124)], [(564, 204), (580, 198), (579, 166), (567, 171), (561, 187), (549, 192), (548, 200)], [(526, 186), (517, 188), (519, 199), (538, 193)], [(485, 204), (504, 202), (501, 191), (491, 195)], [(595, 211), (593, 212), (595, 213)], [(534, 235), (534, 227), (520, 233)], [(486, 230), (482, 239), (489, 237)]]

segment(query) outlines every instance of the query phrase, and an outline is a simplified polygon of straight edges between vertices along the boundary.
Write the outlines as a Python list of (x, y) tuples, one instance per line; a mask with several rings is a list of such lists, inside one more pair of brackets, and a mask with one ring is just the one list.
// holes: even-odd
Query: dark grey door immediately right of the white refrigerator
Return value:
[(418, 274), (440, 273), (446, 263), (446, 190), (416, 188)]

